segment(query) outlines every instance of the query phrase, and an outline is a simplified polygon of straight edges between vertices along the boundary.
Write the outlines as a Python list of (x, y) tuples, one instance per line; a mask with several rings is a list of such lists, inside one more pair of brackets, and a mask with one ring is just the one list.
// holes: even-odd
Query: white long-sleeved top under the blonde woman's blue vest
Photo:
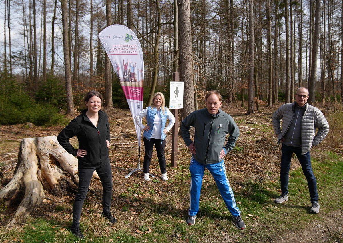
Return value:
[[(136, 121), (137, 125), (143, 130), (143, 128), (145, 127), (142, 124), (142, 118), (146, 116), (146, 114), (148, 113), (148, 109), (149, 107), (146, 107), (143, 111), (141, 111), (140, 113), (138, 113), (137, 115), (135, 115), (134, 120)], [(169, 111), (168, 108), (167, 109), (167, 118), (169, 120), (169, 124), (167, 127), (165, 127), (165, 129), (167, 129), (167, 131), (169, 131), (175, 123), (175, 117), (173, 116), (173, 114), (171, 114), (171, 112)], [(151, 138), (155, 138), (155, 139), (161, 139), (161, 130), (162, 130), (162, 118), (161, 118), (161, 108), (156, 112), (156, 116), (154, 119), (154, 130), (152, 132)]]

